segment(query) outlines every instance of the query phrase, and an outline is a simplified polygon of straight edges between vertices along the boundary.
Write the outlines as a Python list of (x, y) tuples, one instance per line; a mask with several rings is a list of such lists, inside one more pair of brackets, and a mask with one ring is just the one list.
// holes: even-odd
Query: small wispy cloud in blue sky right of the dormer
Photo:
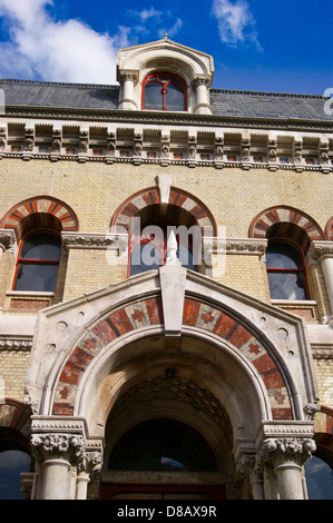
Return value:
[(213, 16), (217, 19), (221, 40), (232, 47), (252, 43), (258, 50), (255, 20), (246, 0), (214, 0)]

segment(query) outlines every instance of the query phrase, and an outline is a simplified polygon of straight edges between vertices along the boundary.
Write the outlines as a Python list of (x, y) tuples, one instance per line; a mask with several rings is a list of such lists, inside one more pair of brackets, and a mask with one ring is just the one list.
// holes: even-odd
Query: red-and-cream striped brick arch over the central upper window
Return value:
[[(160, 205), (160, 195), (158, 187), (150, 187), (140, 190), (127, 198), (116, 210), (112, 220), (111, 229), (114, 231), (121, 231), (125, 229), (130, 230), (131, 218), (149, 216), (149, 209), (154, 206)], [(176, 207), (178, 215), (188, 215), (187, 223), (179, 225), (198, 225), (202, 229), (205, 228), (207, 236), (216, 236), (216, 223), (209, 209), (196, 197), (186, 193), (185, 190), (172, 187), (169, 194), (168, 205)], [(151, 213), (150, 213), (151, 214)], [(168, 216), (168, 215), (167, 215)], [(154, 215), (150, 216), (150, 224), (154, 224)], [(147, 219), (149, 221), (149, 219)]]

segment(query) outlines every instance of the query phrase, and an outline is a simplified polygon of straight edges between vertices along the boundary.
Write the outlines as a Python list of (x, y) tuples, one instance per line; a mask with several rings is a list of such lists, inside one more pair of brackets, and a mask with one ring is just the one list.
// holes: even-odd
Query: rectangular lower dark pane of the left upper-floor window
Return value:
[(53, 292), (58, 265), (19, 264), (14, 290)]

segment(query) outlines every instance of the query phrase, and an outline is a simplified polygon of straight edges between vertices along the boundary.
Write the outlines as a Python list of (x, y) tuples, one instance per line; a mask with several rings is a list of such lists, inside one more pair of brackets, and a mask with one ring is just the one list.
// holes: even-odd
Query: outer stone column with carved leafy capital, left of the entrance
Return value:
[(42, 464), (41, 500), (68, 500), (69, 471), (84, 453), (84, 438), (72, 434), (33, 434), (32, 452)]

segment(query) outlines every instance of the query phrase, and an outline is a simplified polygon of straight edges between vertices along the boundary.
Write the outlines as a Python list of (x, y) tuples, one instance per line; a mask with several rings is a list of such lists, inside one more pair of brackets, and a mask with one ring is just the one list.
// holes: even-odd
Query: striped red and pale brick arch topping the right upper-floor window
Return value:
[(324, 239), (324, 234), (305, 213), (287, 206), (271, 207), (257, 215), (249, 226), (251, 238), (272, 238), (281, 236), (293, 239), (303, 250), (306, 250), (311, 240)]

